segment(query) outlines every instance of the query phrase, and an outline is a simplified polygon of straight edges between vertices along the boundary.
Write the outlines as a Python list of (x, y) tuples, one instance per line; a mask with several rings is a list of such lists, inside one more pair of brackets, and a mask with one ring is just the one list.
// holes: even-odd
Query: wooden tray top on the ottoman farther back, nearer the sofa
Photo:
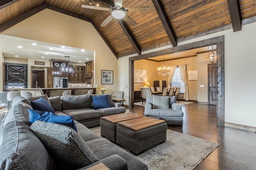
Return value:
[(106, 121), (112, 122), (112, 123), (118, 123), (121, 121), (127, 121), (130, 119), (135, 119), (141, 116), (138, 116), (136, 113), (120, 113), (117, 115), (110, 115), (110, 116), (105, 116), (105, 117), (101, 117), (101, 119), (104, 119)]

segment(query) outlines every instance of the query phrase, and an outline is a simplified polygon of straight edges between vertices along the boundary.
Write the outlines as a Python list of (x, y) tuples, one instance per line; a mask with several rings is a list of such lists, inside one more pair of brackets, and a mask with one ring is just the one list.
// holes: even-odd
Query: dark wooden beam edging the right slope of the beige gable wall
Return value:
[(108, 42), (108, 40), (106, 39), (106, 37), (102, 34), (102, 32), (100, 31), (100, 29), (98, 28), (98, 26), (94, 23), (94, 21), (90, 18), (87, 18), (85, 16), (81, 16), (81, 15), (78, 15), (78, 14), (75, 14), (73, 12), (70, 12), (70, 11), (67, 11), (67, 10), (63, 10), (61, 8), (57, 8), (55, 6), (52, 6), (52, 5), (49, 5), (49, 4), (42, 4), (41, 5), (42, 7), (44, 8), (47, 8), (47, 9), (50, 9), (50, 10), (53, 10), (53, 11), (56, 11), (56, 12), (60, 12), (62, 14), (66, 14), (68, 16), (72, 16), (74, 18), (78, 18), (80, 20), (84, 20), (84, 21), (87, 21), (87, 22), (90, 22), (92, 24), (92, 26), (95, 28), (95, 30), (98, 32), (98, 34), (100, 34), (101, 38), (103, 39), (103, 41), (106, 43), (106, 45), (109, 47), (109, 49), (112, 51), (112, 53), (115, 55), (115, 57), (118, 59), (117, 57), (117, 53), (116, 51), (114, 50), (114, 48), (110, 45), (110, 43)]

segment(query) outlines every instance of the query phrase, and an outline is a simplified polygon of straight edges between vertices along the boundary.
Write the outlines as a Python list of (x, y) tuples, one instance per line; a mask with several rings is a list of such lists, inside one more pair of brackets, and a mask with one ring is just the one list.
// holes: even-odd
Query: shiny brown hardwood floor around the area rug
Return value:
[[(220, 143), (195, 170), (256, 170), (256, 133), (217, 126), (215, 106), (191, 103), (181, 107), (183, 126), (168, 129)], [(126, 111), (144, 115), (143, 106)]]

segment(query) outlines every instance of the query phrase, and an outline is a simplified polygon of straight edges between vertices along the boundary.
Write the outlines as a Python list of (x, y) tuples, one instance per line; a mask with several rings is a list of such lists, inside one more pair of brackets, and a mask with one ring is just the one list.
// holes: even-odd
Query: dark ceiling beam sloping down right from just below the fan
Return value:
[(120, 26), (122, 27), (122, 29), (124, 30), (124, 33), (126, 34), (127, 38), (130, 40), (130, 42), (132, 43), (134, 49), (136, 50), (136, 52), (140, 55), (141, 54), (141, 48), (140, 45), (138, 44), (138, 42), (135, 40), (134, 36), (132, 35), (132, 32), (129, 30), (128, 26), (126, 25), (126, 23), (124, 22), (123, 19), (117, 20), (118, 23), (120, 24)]

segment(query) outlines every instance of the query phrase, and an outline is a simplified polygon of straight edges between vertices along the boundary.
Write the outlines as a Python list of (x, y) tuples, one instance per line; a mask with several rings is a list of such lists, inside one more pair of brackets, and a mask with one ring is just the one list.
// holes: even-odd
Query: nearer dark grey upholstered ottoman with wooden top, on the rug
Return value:
[[(138, 121), (139, 124), (143, 124), (144, 120), (148, 117), (142, 117), (133, 119), (131, 121)], [(141, 120), (140, 120), (141, 119)], [(148, 118), (150, 119), (150, 118)], [(156, 144), (165, 142), (167, 123), (159, 120), (159, 124), (149, 125), (142, 127), (140, 130), (134, 130), (135, 124), (129, 121), (117, 123), (116, 125), (116, 143), (129, 149), (135, 155), (141, 154), (144, 150), (155, 146)]]

